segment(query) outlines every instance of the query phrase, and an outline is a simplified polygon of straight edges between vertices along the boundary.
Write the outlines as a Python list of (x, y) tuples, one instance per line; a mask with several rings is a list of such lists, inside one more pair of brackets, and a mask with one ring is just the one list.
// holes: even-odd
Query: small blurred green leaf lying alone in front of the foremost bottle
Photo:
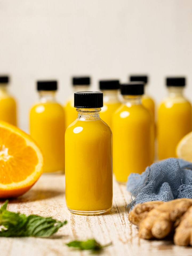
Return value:
[(74, 240), (69, 243), (66, 243), (66, 245), (69, 247), (75, 247), (80, 250), (92, 250), (93, 252), (99, 252), (99, 251), (103, 250), (104, 247), (107, 247), (111, 244), (112, 243), (109, 243), (107, 245), (101, 245), (95, 239), (88, 239), (86, 241)]

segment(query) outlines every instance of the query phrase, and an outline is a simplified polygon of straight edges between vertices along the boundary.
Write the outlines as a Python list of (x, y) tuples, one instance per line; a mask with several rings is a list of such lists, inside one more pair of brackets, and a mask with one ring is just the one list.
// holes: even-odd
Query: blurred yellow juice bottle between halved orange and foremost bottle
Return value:
[(65, 116), (55, 101), (57, 81), (38, 81), (39, 102), (30, 110), (30, 134), (45, 157), (45, 172), (65, 170)]

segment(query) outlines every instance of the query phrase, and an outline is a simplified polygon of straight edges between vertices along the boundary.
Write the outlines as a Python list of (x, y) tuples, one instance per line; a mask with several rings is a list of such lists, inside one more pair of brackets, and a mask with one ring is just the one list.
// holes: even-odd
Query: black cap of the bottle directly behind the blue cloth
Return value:
[(142, 95), (144, 94), (143, 82), (129, 82), (121, 84), (122, 95)]

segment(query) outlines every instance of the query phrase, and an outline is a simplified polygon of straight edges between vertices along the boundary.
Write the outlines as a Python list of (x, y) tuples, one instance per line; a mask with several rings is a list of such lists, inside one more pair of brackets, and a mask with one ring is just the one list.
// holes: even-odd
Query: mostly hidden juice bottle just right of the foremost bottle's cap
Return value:
[(112, 129), (112, 115), (121, 105), (118, 98), (119, 80), (101, 80), (99, 81), (99, 88), (103, 93), (103, 107), (100, 117)]

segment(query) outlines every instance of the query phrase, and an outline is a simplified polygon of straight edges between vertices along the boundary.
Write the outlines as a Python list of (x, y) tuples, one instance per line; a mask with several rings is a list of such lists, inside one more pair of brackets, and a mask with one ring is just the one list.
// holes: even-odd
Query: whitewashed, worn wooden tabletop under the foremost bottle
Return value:
[[(65, 243), (95, 238), (101, 244), (112, 242), (101, 255), (163, 255), (191, 256), (191, 247), (175, 246), (172, 241), (146, 241), (138, 238), (137, 227), (128, 220), (126, 208), (131, 200), (124, 185), (114, 181), (113, 207), (108, 214), (82, 216), (71, 214), (65, 204), (65, 176), (43, 174), (25, 195), (9, 201), (10, 211), (52, 216), (60, 221), (67, 219), (51, 238), (0, 238), (1, 256), (83, 256), (89, 251), (74, 251)], [(2, 203), (3, 201), (0, 201)]]

